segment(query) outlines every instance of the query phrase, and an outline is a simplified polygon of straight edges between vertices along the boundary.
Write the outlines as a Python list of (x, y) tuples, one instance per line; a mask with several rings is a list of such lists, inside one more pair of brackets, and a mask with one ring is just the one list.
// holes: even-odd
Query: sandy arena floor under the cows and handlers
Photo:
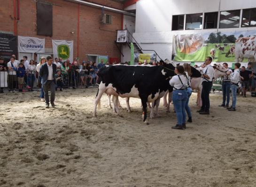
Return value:
[(0, 186), (256, 187), (256, 98), (239, 97), (228, 112), (211, 94), (211, 114), (202, 116), (193, 94), (193, 123), (173, 130), (176, 115), (163, 101), (149, 125), (139, 99), (130, 114), (120, 99), (122, 118), (103, 95), (92, 117), (96, 92), (58, 91), (49, 109), (39, 92), (0, 94)]

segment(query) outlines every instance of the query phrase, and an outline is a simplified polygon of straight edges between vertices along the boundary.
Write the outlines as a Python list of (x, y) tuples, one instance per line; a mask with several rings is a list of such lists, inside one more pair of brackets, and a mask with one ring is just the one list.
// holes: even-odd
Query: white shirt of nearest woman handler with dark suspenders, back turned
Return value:
[[(171, 78), (171, 80), (169, 81), (170, 85), (173, 86), (173, 89), (174, 90), (179, 90), (179, 89), (185, 89), (189, 86), (189, 79), (190, 77), (188, 76), (188, 73), (186, 73), (186, 76), (183, 74), (183, 75), (175, 75)], [(182, 81), (180, 81), (180, 79)]]

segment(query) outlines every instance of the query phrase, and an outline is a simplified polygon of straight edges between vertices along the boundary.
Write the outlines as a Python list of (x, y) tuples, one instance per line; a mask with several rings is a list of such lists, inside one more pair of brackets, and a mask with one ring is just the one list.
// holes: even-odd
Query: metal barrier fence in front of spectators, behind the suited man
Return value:
[[(83, 72), (61, 72), (61, 79), (57, 80), (57, 85), (64, 89), (95, 86), (96, 77), (92, 78)], [(0, 71), (0, 92), (3, 90), (39, 91), (40, 89), (41, 79), (36, 71)]]

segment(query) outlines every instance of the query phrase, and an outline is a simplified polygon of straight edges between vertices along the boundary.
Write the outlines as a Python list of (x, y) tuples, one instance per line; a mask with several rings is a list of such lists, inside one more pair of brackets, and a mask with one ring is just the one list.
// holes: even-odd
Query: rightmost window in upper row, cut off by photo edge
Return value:
[(243, 10), (242, 27), (256, 27), (256, 8)]

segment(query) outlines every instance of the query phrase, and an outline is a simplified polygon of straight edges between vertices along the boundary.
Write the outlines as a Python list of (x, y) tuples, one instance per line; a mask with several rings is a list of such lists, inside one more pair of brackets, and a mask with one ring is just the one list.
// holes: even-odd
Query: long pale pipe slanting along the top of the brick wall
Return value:
[(136, 14), (133, 14), (133, 13), (130, 13), (130, 12), (127, 12), (127, 11), (124, 11), (124, 10), (120, 10), (120, 9), (112, 8), (112, 7), (106, 7), (106, 6), (103, 6), (103, 5), (99, 5), (99, 4), (96, 4), (96, 3), (91, 3), (91, 2), (88, 2), (88, 1), (84, 1), (84, 0), (66, 0), (66, 1), (70, 1), (70, 2), (73, 2), (73, 3), (78, 3), (78, 4), (81, 4), (81, 5), (94, 7), (94, 8), (104, 8), (104, 10), (119, 13), (119, 14), (130, 15), (130, 16), (133, 16), (133, 17), (136, 16)]

